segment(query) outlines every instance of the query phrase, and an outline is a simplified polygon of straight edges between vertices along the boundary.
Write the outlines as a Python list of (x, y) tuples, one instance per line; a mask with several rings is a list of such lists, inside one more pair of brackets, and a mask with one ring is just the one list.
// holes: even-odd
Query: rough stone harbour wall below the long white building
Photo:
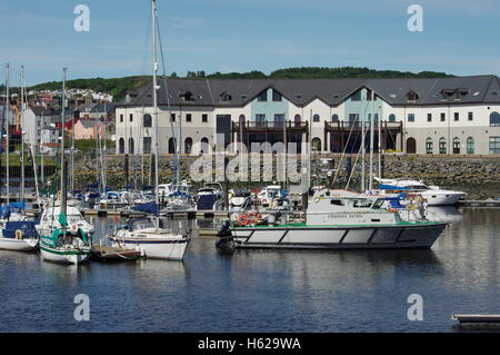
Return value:
[[(198, 156), (180, 156), (179, 167), (180, 176), (186, 179), (193, 179), (191, 165), (196, 164)], [(348, 162), (350, 158), (350, 164)], [(356, 155), (313, 155), (310, 159), (311, 165), (311, 185), (328, 184), (328, 170), (332, 169), (330, 176), (336, 176), (333, 187), (344, 188), (349, 180), (349, 188), (359, 189), (361, 181), (361, 162)], [(173, 172), (173, 156), (161, 156), (159, 160), (160, 183), (169, 183)], [(239, 157), (228, 156), (229, 161), (239, 160)], [(127, 161), (128, 160), (128, 161)], [(106, 159), (107, 184), (112, 188), (123, 186), (151, 185), (153, 170), (150, 169), (152, 158), (150, 155), (112, 155)], [(220, 162), (221, 160), (219, 160)], [(249, 159), (250, 161), (250, 159)], [(357, 162), (356, 162), (357, 161)], [(428, 185), (438, 185), (441, 187), (453, 188), (468, 193), (468, 199), (500, 198), (500, 156), (428, 156), (428, 155), (384, 155), (382, 159), (382, 171), (384, 178), (412, 178), (423, 180)], [(354, 164), (356, 162), (356, 164)], [(231, 162), (230, 162), (231, 164)], [(304, 160), (303, 164), (309, 164)], [(76, 161), (74, 179), (77, 187), (83, 187), (87, 184), (94, 183), (98, 179), (96, 170), (97, 159), (81, 157)], [(128, 166), (128, 169), (127, 169)], [(216, 175), (219, 181), (223, 183), (220, 169), (217, 172), (216, 158), (212, 159), (212, 178)], [(277, 179), (277, 159), (261, 159), (260, 171), (262, 175), (272, 176), (268, 181), (229, 183), (230, 188), (258, 188), (269, 185)], [(349, 169), (351, 166), (351, 169)], [(338, 170), (337, 170), (338, 169)], [(368, 181), (369, 159), (366, 160), (366, 177)], [(127, 171), (128, 170), (128, 171)], [(301, 171), (301, 161), (298, 158), (297, 165), (289, 162), (290, 177), (297, 180)], [(350, 172), (351, 171), (351, 172)], [(373, 158), (373, 175), (378, 176), (378, 156)], [(249, 174), (250, 177), (250, 174)], [(321, 179), (321, 177), (323, 177)], [(350, 179), (349, 179), (350, 177)], [(332, 179), (332, 178), (331, 178)], [(202, 183), (194, 181), (194, 187), (200, 187)]]

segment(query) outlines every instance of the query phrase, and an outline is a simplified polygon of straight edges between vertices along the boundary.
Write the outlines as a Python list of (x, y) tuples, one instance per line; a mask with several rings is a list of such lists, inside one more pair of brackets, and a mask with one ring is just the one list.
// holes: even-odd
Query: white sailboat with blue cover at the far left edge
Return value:
[[(3, 118), (6, 119), (6, 128), (7, 128), (6, 137), (8, 137), (8, 135), (9, 135), (9, 116), (10, 116), (9, 115), (10, 114), (9, 112), (9, 110), (10, 110), (9, 66), (7, 66), (6, 69), (7, 69), (7, 71), (6, 71), (6, 88), (7, 88), (7, 90), (6, 90), (6, 102), (4, 102), (6, 115)], [(24, 118), (23, 75), (24, 75), (24, 70), (21, 67), (21, 117), (22, 117), (21, 131), (23, 128), (23, 118)], [(6, 149), (7, 149), (7, 151), (9, 151), (8, 139), (6, 142)], [(21, 150), (23, 152), (23, 149), (21, 149)], [(21, 152), (21, 155), (22, 155), (22, 152)], [(23, 157), (21, 159), (23, 159)], [(22, 164), (22, 168), (23, 168), (23, 164)], [(9, 186), (9, 183), (7, 184), (7, 186)], [(24, 176), (22, 174), (22, 181), (21, 181), (22, 191), (23, 191), (23, 186), (24, 186)], [(24, 196), (22, 195), (21, 198), (23, 199)], [(22, 206), (23, 206), (23, 204), (22, 204)], [(24, 218), (22, 218), (23, 216), (20, 216), (20, 217), (18, 216), (18, 218), (12, 218), (9, 203), (3, 208), (3, 213), (4, 213), (4, 214), (2, 214), (3, 220), (1, 223), (1, 228), (0, 228), (0, 249), (20, 250), (20, 252), (34, 250), (38, 247), (38, 243), (39, 243), (39, 235), (34, 228), (34, 223), (28, 221), (28, 220), (22, 220), (22, 219), (24, 219)], [(14, 219), (17, 219), (17, 220), (14, 220)]]

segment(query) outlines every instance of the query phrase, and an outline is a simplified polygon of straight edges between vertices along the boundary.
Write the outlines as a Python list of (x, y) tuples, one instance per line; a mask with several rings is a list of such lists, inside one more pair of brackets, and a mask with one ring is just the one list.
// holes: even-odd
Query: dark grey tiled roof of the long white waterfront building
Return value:
[[(164, 81), (158, 81), (158, 105), (167, 105)], [(329, 106), (340, 105), (362, 87), (372, 89), (390, 105), (438, 105), (446, 102), (500, 102), (500, 80), (496, 76), (456, 77), (442, 79), (168, 79), (170, 103), (174, 106), (244, 106), (268, 88), (273, 88), (296, 106), (320, 99)], [(143, 86), (130, 101), (117, 106), (152, 106), (152, 85)], [(443, 99), (442, 91), (449, 92)], [(460, 101), (453, 92), (461, 92)], [(493, 92), (497, 91), (497, 95)], [(418, 98), (409, 102), (408, 93)], [(230, 100), (222, 97), (230, 96)], [(187, 100), (186, 98), (191, 98)]]

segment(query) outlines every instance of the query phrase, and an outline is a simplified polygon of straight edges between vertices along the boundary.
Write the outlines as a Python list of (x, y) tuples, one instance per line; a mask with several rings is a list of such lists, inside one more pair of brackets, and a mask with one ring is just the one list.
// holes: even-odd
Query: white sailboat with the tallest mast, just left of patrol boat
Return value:
[[(154, 204), (152, 204), (152, 216), (132, 219), (128, 226), (117, 229), (109, 236), (113, 246), (136, 249), (148, 258), (160, 258), (182, 260), (188, 247), (190, 236), (187, 234), (172, 233), (167, 228), (163, 220), (159, 218), (159, 137), (158, 137), (158, 90), (157, 82), (157, 3), (151, 0), (152, 18), (152, 91), (153, 91), (153, 117), (154, 117)], [(166, 88), (167, 89), (167, 88)]]

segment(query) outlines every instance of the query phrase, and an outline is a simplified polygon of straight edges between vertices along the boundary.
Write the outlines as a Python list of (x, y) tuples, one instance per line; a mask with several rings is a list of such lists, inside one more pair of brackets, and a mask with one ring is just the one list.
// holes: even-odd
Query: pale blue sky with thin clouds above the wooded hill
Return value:
[[(423, 32), (407, 9), (423, 8)], [(90, 31), (73, 29), (78, 4)], [(498, 0), (158, 0), (167, 72), (301, 66), (500, 75)], [(12, 83), (150, 72), (149, 0), (1, 0), (0, 63)], [(3, 81), (3, 79), (2, 79)]]

